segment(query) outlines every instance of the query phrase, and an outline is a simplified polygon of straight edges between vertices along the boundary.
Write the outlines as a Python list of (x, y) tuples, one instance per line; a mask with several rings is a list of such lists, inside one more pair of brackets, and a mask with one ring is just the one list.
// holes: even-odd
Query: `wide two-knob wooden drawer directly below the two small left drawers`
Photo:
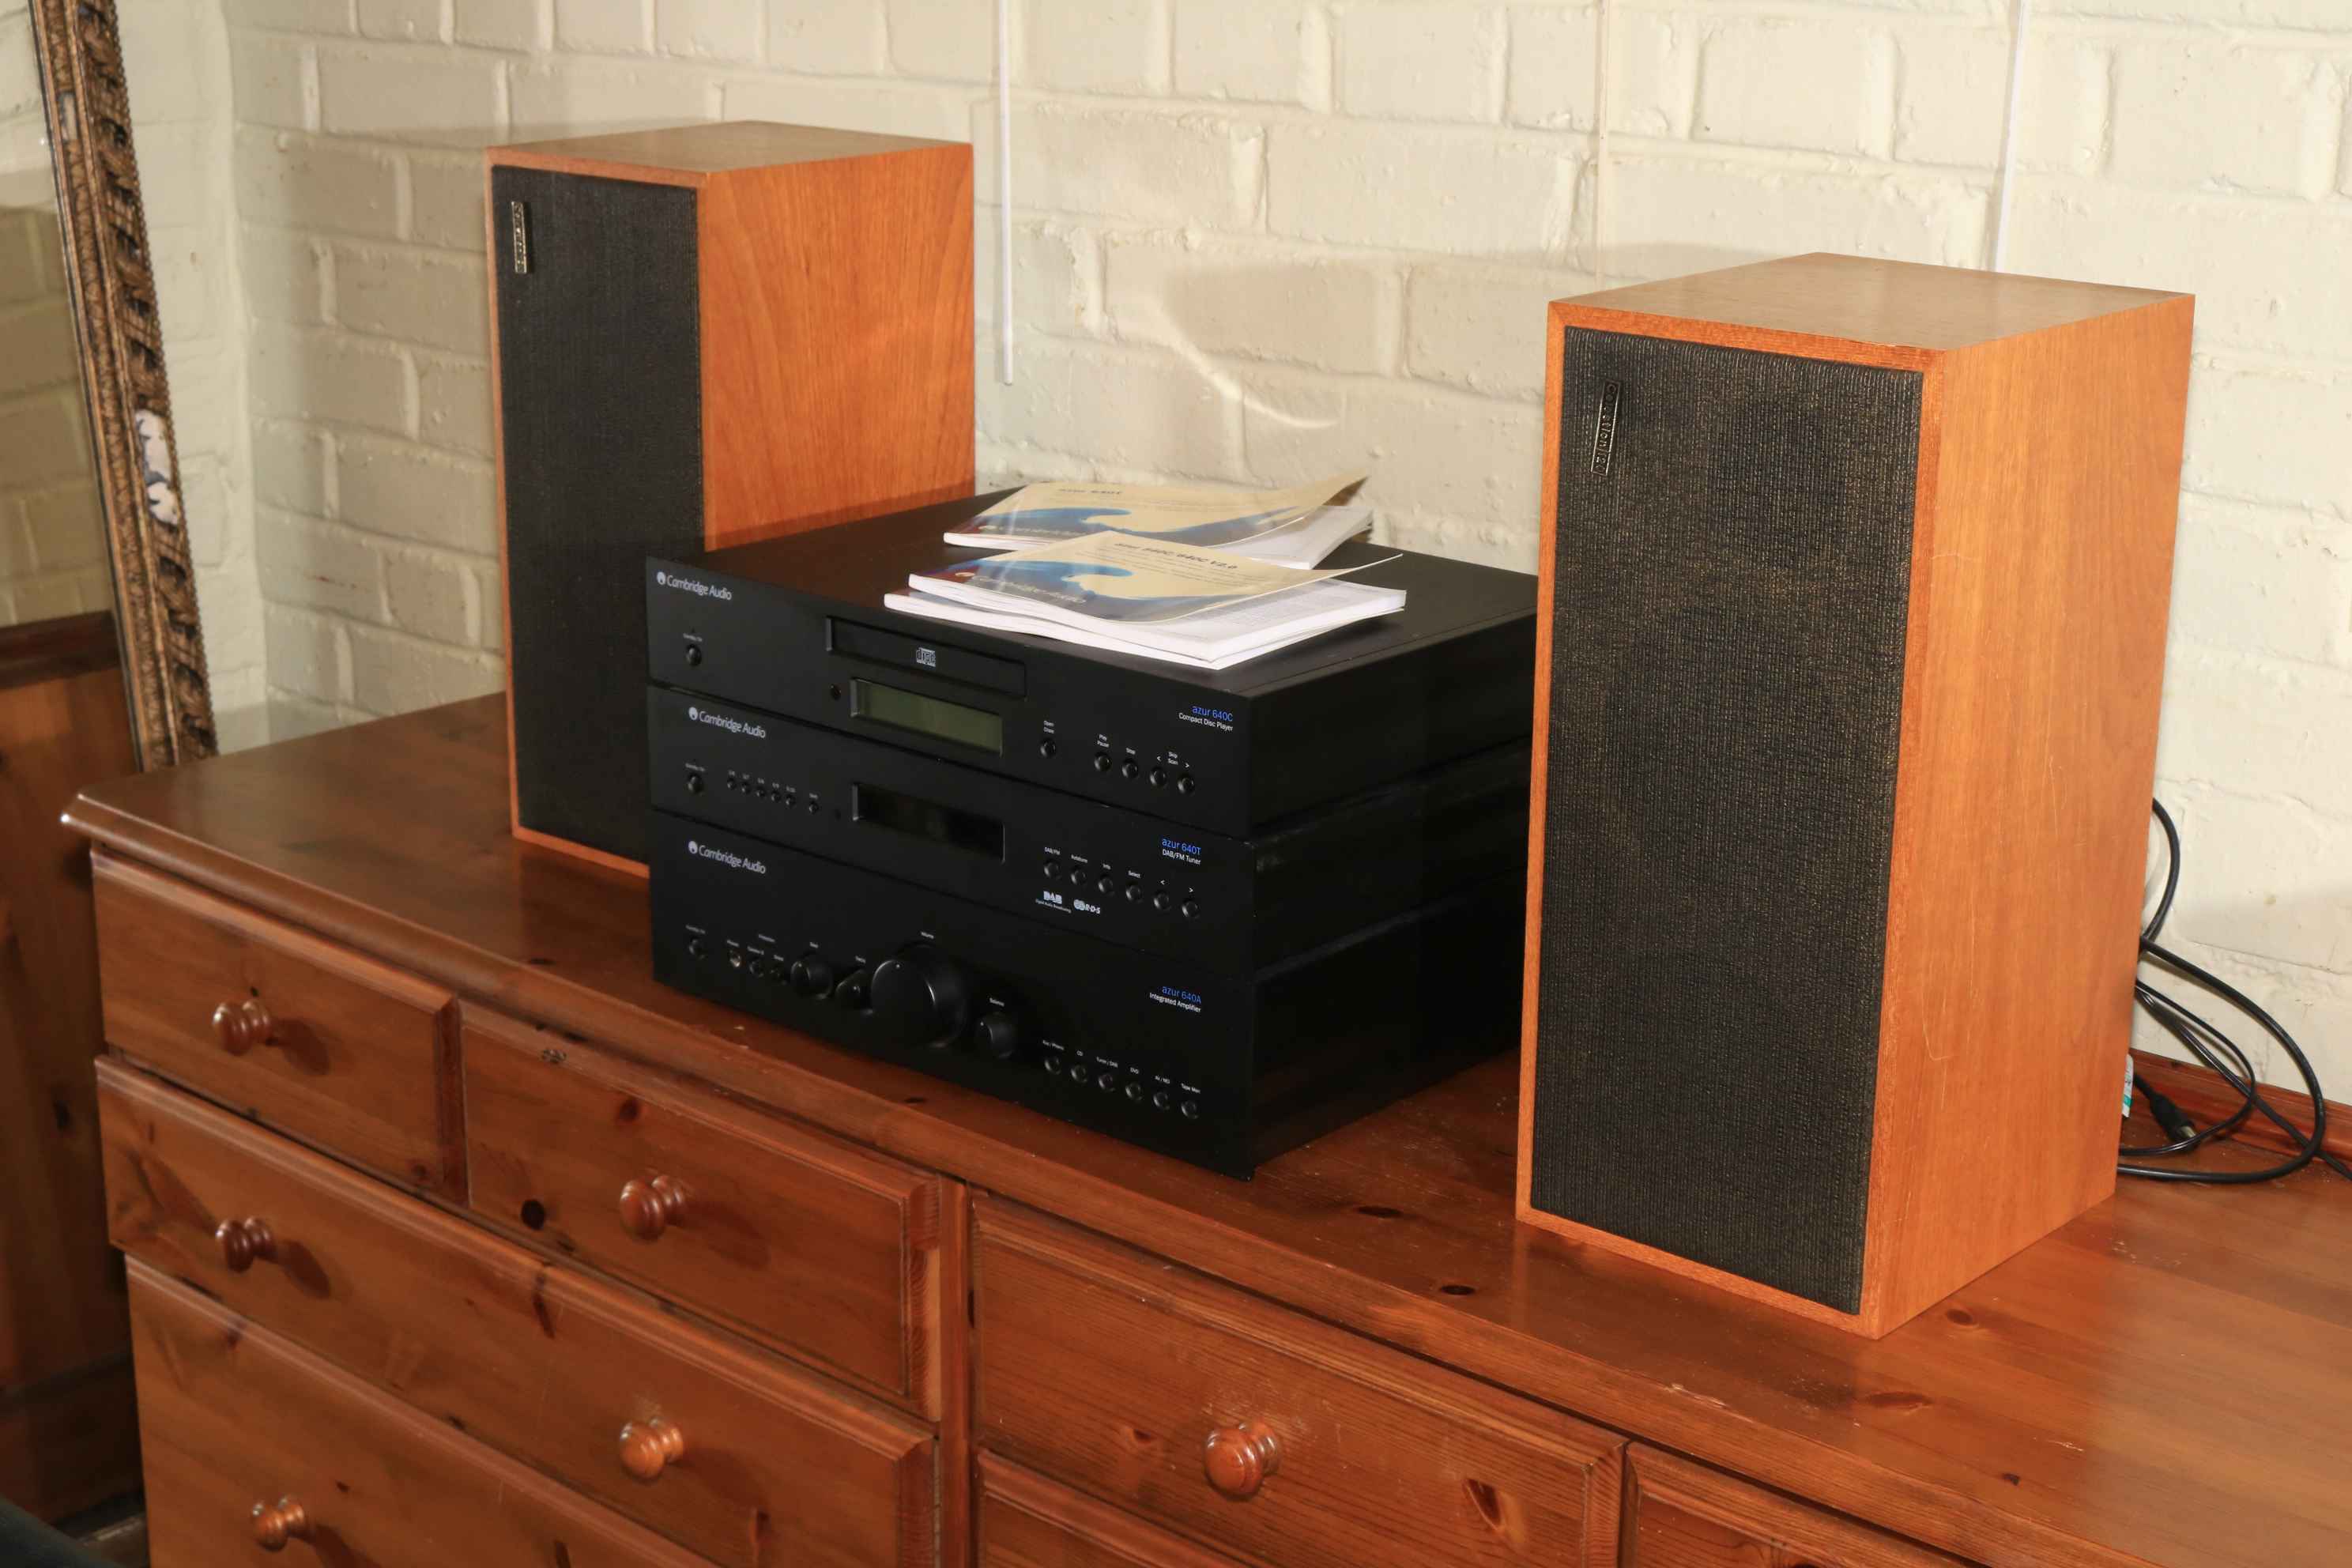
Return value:
[(115, 1063), (99, 1114), (115, 1246), (240, 1316), (731, 1568), (934, 1561), (910, 1420)]

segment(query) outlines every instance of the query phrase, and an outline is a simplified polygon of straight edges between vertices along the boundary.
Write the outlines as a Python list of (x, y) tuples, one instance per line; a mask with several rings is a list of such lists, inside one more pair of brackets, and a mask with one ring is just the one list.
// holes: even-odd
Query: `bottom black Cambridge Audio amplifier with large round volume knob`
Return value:
[(1505, 1048), (1517, 912), (1491, 884), (1251, 976), (654, 816), (663, 985), (1232, 1175)]

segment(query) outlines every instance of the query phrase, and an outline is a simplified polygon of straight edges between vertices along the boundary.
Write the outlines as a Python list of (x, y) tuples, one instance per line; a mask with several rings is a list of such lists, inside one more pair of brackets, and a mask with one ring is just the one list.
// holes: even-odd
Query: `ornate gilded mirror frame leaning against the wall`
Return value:
[(212, 757), (219, 743), (115, 0), (31, 7), (132, 738), (139, 766), (160, 769)]

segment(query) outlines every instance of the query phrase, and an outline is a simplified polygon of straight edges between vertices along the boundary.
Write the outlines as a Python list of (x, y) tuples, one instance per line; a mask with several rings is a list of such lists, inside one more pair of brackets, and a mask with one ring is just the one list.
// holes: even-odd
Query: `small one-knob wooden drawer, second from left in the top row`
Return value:
[(475, 1213), (938, 1415), (941, 1180), (466, 1009)]

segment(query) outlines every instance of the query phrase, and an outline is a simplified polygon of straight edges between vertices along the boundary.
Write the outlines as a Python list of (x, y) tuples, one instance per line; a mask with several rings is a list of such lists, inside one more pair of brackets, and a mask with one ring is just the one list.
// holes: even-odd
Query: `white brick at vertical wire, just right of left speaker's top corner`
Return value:
[[(995, 115), (976, 125), (978, 188), (995, 190)], [(1258, 216), (1261, 143), (1256, 125), (1216, 115), (1016, 108), (1014, 200), (1136, 223), (1247, 228)]]

